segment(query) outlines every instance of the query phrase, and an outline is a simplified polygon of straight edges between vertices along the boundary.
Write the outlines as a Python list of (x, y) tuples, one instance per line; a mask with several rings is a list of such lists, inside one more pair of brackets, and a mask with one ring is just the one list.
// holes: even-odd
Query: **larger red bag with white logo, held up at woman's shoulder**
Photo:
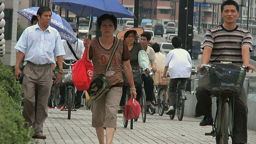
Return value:
[(89, 60), (87, 40), (83, 57), (72, 66), (72, 79), (77, 90), (88, 90), (92, 81), (92, 62)]

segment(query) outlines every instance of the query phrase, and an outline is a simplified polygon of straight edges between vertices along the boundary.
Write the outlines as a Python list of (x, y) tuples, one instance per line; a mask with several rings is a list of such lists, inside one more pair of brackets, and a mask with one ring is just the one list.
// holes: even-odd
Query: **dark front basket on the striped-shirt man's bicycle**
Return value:
[(233, 91), (240, 96), (244, 84), (246, 70), (234, 64), (214, 64), (209, 69), (211, 92), (220, 95), (220, 92)]

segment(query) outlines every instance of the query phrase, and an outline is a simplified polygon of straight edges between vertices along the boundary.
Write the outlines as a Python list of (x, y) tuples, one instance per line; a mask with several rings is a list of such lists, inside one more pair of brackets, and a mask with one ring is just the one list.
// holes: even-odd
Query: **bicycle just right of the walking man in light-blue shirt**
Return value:
[[(70, 120), (71, 111), (76, 111), (75, 109), (76, 87), (72, 82), (72, 68), (71, 68), (75, 62), (77, 62), (77, 60), (70, 62), (70, 64), (67, 64), (66, 62), (63, 61), (65, 65), (69, 66), (69, 69), (63, 69), (62, 82), (66, 84), (65, 86), (66, 93), (65, 93), (64, 108), (62, 108), (60, 111), (68, 111), (68, 120)], [(67, 106), (68, 108), (66, 108)]]

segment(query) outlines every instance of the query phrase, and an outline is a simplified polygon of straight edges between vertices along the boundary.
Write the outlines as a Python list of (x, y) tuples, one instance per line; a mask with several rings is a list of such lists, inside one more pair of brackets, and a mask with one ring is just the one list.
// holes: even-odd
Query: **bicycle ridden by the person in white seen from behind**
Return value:
[(177, 78), (177, 90), (176, 90), (176, 104), (174, 106), (174, 114), (169, 115), (170, 119), (173, 120), (175, 117), (175, 110), (177, 110), (178, 120), (182, 121), (184, 115), (184, 107), (186, 100), (186, 83), (188, 78)]

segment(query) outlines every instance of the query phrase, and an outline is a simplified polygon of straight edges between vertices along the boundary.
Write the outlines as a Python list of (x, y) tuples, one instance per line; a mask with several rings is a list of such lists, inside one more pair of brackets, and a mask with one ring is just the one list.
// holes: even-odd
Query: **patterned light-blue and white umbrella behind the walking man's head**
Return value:
[[(36, 12), (39, 7), (31, 7), (25, 8), (23, 10), (18, 11), (18, 14), (22, 15), (28, 21), (31, 21), (32, 16), (36, 16)], [(74, 35), (74, 31), (70, 24), (64, 20), (60, 15), (52, 12), (52, 19), (50, 22), (50, 26), (58, 30), (60, 33), (61, 39), (67, 40), (68, 42), (75, 43), (77, 42), (77, 38)]]

